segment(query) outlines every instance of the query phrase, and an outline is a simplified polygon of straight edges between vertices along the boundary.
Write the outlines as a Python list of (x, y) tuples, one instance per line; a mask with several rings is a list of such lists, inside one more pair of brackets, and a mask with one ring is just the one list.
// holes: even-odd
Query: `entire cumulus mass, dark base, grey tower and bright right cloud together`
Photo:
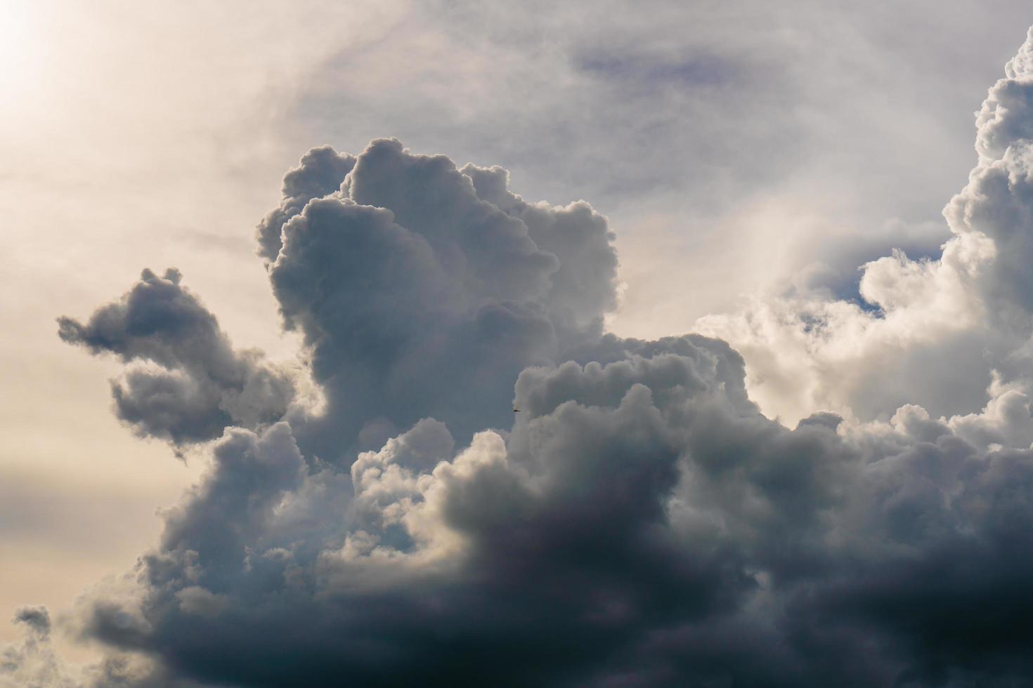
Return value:
[[(604, 333), (617, 259), (587, 203), (394, 139), (309, 152), (258, 242), (322, 403), (175, 270), (61, 321), (136, 366), (114, 389), (140, 433), (215, 438), (160, 542), (75, 611), (109, 650), (82, 682), (1033, 683), (1031, 55), (978, 114), (942, 257), (866, 265), (872, 307), (700, 324), (745, 361)], [(19, 615), (2, 670), (32, 676), (49, 620)]]

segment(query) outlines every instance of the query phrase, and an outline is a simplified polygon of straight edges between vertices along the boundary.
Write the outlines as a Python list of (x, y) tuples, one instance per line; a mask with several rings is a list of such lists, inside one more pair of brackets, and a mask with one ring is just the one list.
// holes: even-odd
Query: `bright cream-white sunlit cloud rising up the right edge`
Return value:
[(823, 407), (870, 420), (915, 402), (950, 416), (982, 407), (995, 372), (1028, 385), (1031, 42), (977, 113), (978, 163), (943, 210), (951, 236), (939, 257), (894, 251), (866, 263), (864, 305), (804, 293), (698, 322), (743, 352), (766, 412), (792, 420)]

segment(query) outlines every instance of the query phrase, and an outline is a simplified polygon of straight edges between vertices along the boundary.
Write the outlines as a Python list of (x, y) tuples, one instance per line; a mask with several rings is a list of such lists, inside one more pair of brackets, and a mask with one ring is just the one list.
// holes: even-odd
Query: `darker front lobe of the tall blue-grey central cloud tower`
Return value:
[(328, 411), (310, 431), (328, 435), (317, 445), (324, 451), (347, 449), (381, 419), (394, 426), (433, 415), (467, 432), (486, 420), (501, 425), (511, 381), (555, 353), (544, 313), (513, 301), (464, 303), (429, 243), (387, 210), (313, 201), (286, 237), (272, 277), (326, 395)]

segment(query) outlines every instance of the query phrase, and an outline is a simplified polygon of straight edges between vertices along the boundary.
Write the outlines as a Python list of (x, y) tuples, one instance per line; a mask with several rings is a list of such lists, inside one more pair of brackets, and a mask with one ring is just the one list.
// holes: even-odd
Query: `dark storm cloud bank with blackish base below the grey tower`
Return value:
[[(142, 597), (96, 600), (87, 630), (229, 685), (1028, 676), (1033, 454), (919, 418), (790, 431), (729, 397), (738, 361), (679, 348), (525, 371), (507, 441), (449, 458), (425, 422), (362, 455), (352, 489), (304, 476), (285, 425), (232, 431)], [(287, 516), (307, 495), (336, 529)]]

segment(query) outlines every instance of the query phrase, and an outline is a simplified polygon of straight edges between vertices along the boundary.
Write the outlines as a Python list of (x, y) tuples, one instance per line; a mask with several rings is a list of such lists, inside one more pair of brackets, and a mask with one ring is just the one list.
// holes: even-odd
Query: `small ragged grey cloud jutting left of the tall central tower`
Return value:
[(94, 354), (112, 353), (130, 367), (112, 383), (119, 418), (142, 435), (175, 445), (204, 441), (225, 427), (278, 420), (293, 383), (259, 353), (234, 351), (218, 321), (181, 284), (176, 269), (144, 270), (132, 289), (83, 324), (58, 320), (59, 334)]

